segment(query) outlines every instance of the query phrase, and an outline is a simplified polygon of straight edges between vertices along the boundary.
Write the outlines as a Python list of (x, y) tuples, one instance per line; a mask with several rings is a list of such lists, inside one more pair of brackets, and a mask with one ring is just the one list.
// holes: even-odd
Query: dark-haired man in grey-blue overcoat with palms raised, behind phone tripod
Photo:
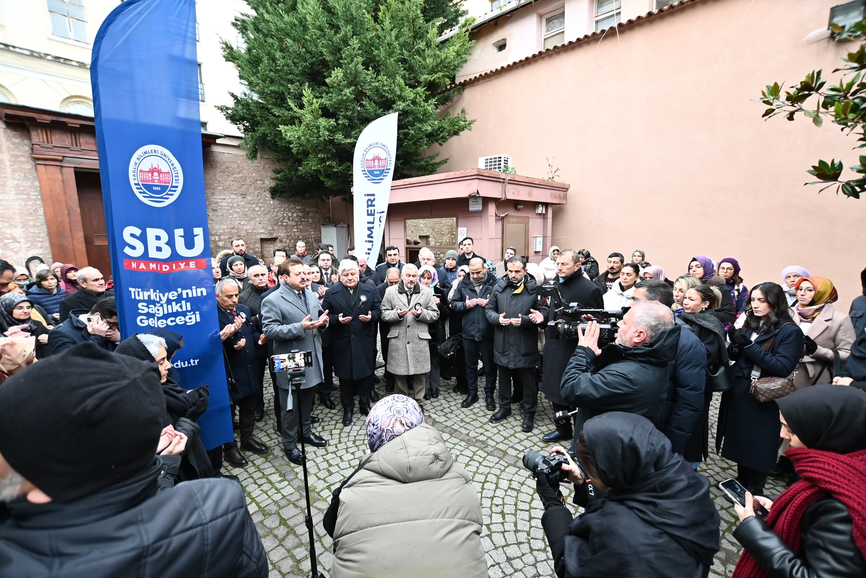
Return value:
[(309, 274), (303, 261), (290, 257), (282, 262), (279, 273), (279, 288), (262, 299), (262, 331), (273, 342), (275, 355), (292, 350), (313, 352), (313, 365), (301, 378), (300, 395), (292, 388), (287, 371), (275, 374), (282, 408), (282, 445), (288, 460), (300, 466), (304, 455), (298, 447), (298, 411), (303, 417), (304, 443), (315, 447), (327, 445), (325, 439), (313, 433), (310, 414), (317, 386), (324, 381), (318, 330), (328, 324), (328, 317), (327, 311), (321, 311), (319, 299), (307, 289)]

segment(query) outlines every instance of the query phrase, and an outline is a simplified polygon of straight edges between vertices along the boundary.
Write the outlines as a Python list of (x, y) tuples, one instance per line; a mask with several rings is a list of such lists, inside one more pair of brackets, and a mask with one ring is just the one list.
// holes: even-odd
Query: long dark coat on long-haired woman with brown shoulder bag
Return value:
[[(764, 344), (773, 336), (770, 350), (765, 351)], [(759, 335), (739, 353), (734, 352), (733, 345), (728, 351), (736, 363), (728, 373), (731, 389), (721, 396), (721, 435), (716, 434), (716, 445), (723, 443), (721, 457), (759, 472), (769, 472), (779, 453), (779, 406), (775, 401), (762, 403), (749, 393), (752, 369), (757, 363), (761, 377), (790, 376), (803, 356), (803, 331), (788, 323), (767, 335)]]

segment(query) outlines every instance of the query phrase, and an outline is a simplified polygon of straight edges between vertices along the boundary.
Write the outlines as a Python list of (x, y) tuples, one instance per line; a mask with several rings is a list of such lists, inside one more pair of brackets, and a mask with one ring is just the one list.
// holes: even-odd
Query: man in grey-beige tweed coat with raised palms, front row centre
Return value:
[(433, 292), (418, 284), (418, 269), (405, 265), (400, 282), (388, 287), (379, 308), (388, 331), (388, 371), (394, 374), (397, 393), (422, 404), (424, 382), (430, 372), (430, 331), (427, 324), (439, 318)]

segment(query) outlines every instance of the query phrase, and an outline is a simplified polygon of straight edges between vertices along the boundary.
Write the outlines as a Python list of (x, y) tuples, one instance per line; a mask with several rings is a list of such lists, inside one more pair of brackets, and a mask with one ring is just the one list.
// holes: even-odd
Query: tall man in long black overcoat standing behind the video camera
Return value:
[[(583, 267), (577, 252), (565, 249), (556, 258), (556, 276), (553, 285), (559, 287), (563, 303), (578, 303), (586, 309), (601, 309), (604, 306), (604, 292), (590, 279), (584, 277)], [(553, 311), (550, 312), (553, 319)], [(550, 335), (544, 344), (544, 371), (541, 374), (541, 391), (553, 404), (553, 413), (573, 411), (574, 407), (565, 403), (559, 393), (559, 384), (568, 360), (572, 358), (575, 339), (553, 339)], [(557, 425), (553, 432), (545, 433), (542, 440), (550, 443), (559, 440), (572, 440), (574, 432), (571, 423)]]

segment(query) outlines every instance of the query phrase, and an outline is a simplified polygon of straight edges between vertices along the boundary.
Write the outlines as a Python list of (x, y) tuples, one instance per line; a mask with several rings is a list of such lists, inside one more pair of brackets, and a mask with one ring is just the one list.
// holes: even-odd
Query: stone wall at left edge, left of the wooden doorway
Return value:
[(0, 259), (24, 265), (32, 255), (51, 264), (48, 229), (30, 135), (23, 126), (0, 121)]

